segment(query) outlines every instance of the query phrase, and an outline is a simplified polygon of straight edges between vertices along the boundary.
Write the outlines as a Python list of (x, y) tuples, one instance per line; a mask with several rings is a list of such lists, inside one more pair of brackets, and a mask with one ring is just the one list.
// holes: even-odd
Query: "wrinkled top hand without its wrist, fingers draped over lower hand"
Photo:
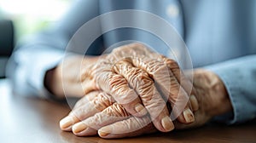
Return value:
[(148, 112), (156, 129), (170, 131), (174, 127), (166, 106), (168, 100), (172, 117), (178, 117), (182, 123), (194, 121), (191, 110), (197, 107), (192, 109), (188, 102), (192, 83), (174, 60), (139, 43), (114, 49), (106, 59), (96, 66), (96, 87), (111, 94), (127, 112), (136, 117)]

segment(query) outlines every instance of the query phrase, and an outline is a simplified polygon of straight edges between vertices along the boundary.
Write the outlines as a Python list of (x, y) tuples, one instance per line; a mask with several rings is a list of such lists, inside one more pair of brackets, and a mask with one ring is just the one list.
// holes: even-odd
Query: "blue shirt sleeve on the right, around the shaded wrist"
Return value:
[(233, 112), (214, 117), (213, 120), (233, 124), (256, 117), (255, 63), (256, 54), (252, 54), (205, 67), (222, 79), (233, 106)]

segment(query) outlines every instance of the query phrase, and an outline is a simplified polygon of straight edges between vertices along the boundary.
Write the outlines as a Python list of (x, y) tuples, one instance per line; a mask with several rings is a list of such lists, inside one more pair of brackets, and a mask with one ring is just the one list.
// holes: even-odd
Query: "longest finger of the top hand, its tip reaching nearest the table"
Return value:
[[(131, 88), (143, 100), (143, 105), (148, 110), (154, 126), (160, 131), (166, 132), (173, 129), (173, 124), (169, 116), (166, 101), (154, 87), (153, 80), (148, 73), (132, 66), (131, 58), (126, 58), (117, 62), (114, 71), (125, 77)], [(168, 119), (169, 118), (169, 119)], [(172, 127), (172, 128), (170, 128)]]

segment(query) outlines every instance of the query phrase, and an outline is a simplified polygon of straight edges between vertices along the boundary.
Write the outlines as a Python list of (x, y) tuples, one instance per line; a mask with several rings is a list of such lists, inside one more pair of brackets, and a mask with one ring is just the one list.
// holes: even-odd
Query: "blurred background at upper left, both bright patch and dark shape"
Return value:
[(0, 0), (0, 77), (21, 38), (59, 20), (72, 0)]

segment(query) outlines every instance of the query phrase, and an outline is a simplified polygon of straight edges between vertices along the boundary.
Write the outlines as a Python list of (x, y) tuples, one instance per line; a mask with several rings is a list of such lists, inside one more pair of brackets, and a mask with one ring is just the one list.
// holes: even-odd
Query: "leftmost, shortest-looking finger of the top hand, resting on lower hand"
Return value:
[(96, 83), (99, 89), (111, 94), (113, 99), (125, 107), (134, 116), (142, 117), (146, 112), (142, 101), (134, 89), (131, 89), (125, 78), (113, 71), (112, 64), (104, 63), (96, 70)]

